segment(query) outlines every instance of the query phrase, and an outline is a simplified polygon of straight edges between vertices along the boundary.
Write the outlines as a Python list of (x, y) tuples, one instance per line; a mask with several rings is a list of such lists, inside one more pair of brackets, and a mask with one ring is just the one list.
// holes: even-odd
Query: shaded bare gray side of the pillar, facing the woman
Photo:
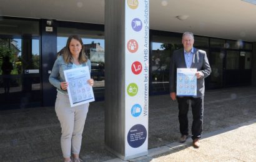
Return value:
[(125, 1), (105, 7), (105, 143), (112, 153), (125, 155)]

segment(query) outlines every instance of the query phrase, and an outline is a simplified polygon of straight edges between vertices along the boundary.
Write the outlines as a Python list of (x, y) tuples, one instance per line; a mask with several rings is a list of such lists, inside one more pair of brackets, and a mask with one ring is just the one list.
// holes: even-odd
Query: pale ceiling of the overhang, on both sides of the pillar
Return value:
[[(0, 15), (104, 24), (104, 6), (105, 0), (0, 0)], [(180, 21), (180, 15), (189, 17)], [(241, 0), (150, 0), (150, 29), (256, 42), (256, 5)]]

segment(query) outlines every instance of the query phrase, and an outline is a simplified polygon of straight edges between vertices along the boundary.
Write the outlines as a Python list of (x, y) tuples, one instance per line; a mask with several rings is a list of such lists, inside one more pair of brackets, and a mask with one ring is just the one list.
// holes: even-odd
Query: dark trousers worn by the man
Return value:
[(180, 133), (182, 135), (189, 135), (187, 113), (189, 112), (190, 103), (193, 115), (192, 139), (200, 138), (203, 130), (204, 97), (177, 97), (177, 100), (179, 103)]

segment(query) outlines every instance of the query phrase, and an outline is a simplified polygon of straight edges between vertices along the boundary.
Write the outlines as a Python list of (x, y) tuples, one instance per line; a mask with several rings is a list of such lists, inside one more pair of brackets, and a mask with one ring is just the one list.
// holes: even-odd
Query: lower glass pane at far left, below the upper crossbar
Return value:
[(41, 105), (39, 39), (0, 38), (0, 109)]

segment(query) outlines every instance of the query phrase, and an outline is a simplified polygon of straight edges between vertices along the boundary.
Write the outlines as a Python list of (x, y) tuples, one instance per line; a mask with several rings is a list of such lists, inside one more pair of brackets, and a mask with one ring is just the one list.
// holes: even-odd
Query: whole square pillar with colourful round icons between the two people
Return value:
[(148, 148), (149, 0), (105, 5), (105, 143), (128, 160)]

